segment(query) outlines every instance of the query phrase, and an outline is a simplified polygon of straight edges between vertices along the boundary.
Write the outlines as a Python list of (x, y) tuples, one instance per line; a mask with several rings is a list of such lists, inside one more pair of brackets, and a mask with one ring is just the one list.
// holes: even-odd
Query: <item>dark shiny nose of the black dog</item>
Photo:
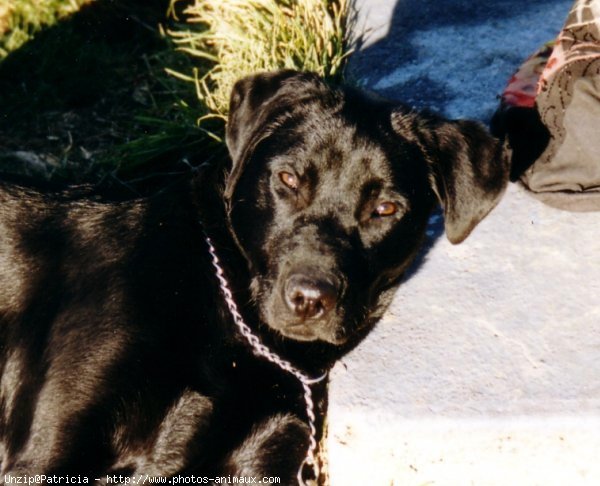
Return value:
[(338, 286), (335, 279), (294, 274), (285, 286), (288, 308), (303, 321), (328, 314), (337, 301)]

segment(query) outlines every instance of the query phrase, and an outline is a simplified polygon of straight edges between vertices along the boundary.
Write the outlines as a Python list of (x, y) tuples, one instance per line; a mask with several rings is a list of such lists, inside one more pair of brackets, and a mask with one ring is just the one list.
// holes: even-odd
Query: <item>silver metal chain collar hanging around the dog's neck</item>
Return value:
[(312, 390), (310, 386), (320, 381), (323, 381), (327, 377), (327, 372), (325, 372), (322, 376), (319, 376), (318, 378), (310, 378), (304, 373), (302, 373), (302, 371), (294, 367), (292, 363), (281, 358), (278, 354), (271, 351), (267, 346), (260, 342), (258, 336), (256, 336), (252, 332), (252, 329), (250, 329), (250, 327), (244, 322), (242, 315), (238, 311), (238, 307), (235, 303), (235, 300), (233, 299), (233, 294), (229, 287), (229, 283), (225, 278), (225, 272), (223, 271), (219, 257), (217, 256), (217, 251), (215, 250), (215, 247), (213, 246), (210, 237), (206, 233), (204, 233), (204, 236), (206, 239), (206, 243), (208, 244), (208, 251), (210, 253), (210, 256), (212, 257), (212, 264), (216, 270), (216, 275), (217, 279), (219, 280), (221, 292), (223, 292), (223, 296), (225, 297), (225, 303), (229, 308), (229, 312), (231, 313), (231, 316), (233, 317), (233, 320), (237, 325), (240, 334), (244, 336), (244, 338), (246, 338), (246, 340), (248, 341), (250, 346), (252, 346), (257, 355), (269, 360), (271, 363), (274, 363), (277, 366), (279, 366), (279, 368), (281, 368), (283, 371), (286, 371), (287, 373), (290, 373), (291, 375), (295, 376), (298, 379), (298, 381), (302, 384), (302, 388), (304, 390), (304, 403), (306, 404), (306, 416), (308, 418), (308, 427), (310, 429), (310, 438), (308, 449), (306, 451), (306, 457), (302, 461), (300, 469), (298, 470), (298, 484), (300, 486), (309, 486), (309, 483), (306, 483), (303, 479), (303, 472), (305, 467), (310, 467), (312, 469), (313, 474), (315, 476), (314, 484), (316, 484), (316, 481), (318, 481), (319, 479), (319, 463), (316, 459), (317, 429), (315, 426), (315, 407), (312, 399)]

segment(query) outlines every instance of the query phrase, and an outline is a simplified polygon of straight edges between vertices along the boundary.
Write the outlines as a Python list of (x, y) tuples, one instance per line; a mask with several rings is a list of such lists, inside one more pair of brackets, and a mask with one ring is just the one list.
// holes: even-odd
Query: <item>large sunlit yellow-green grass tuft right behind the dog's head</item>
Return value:
[[(182, 0), (171, 0), (171, 12)], [(348, 0), (195, 0), (187, 26), (170, 30), (178, 49), (209, 66), (170, 70), (195, 84), (210, 117), (225, 119), (237, 79), (276, 69), (313, 71), (340, 80), (349, 54)]]

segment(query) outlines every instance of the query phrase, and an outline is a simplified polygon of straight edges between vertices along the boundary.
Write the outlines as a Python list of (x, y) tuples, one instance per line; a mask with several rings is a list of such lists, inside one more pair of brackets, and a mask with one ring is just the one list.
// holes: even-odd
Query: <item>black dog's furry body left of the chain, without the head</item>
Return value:
[(250, 476), (244, 438), (267, 440), (253, 426), (304, 433), (285, 415), (302, 416), (297, 385), (229, 322), (180, 191), (111, 203), (5, 188), (5, 471)]

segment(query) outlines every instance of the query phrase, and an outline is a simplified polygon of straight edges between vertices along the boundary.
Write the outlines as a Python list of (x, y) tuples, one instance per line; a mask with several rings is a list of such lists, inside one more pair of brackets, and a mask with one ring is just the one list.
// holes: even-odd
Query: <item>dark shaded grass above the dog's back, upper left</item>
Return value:
[[(202, 108), (174, 109), (198, 101), (164, 72), (190, 63), (160, 32), (168, 5), (97, 0), (0, 62), (0, 170), (88, 182), (189, 161)], [(133, 149), (139, 160), (127, 159)]]

